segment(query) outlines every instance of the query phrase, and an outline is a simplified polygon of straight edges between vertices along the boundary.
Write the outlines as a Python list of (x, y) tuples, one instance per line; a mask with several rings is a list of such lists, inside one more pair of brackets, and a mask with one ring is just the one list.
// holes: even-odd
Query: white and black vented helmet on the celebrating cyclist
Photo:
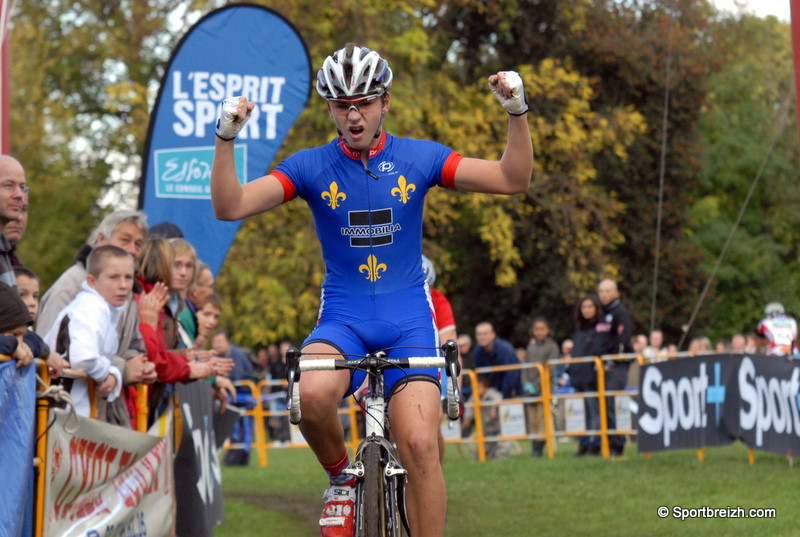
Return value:
[(322, 62), (317, 93), (325, 99), (358, 99), (383, 95), (392, 86), (392, 70), (380, 54), (348, 43)]

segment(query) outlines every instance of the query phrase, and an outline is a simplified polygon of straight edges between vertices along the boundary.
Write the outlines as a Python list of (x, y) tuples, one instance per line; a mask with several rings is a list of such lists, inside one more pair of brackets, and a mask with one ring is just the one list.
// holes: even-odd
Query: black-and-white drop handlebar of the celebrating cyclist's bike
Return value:
[(300, 360), (300, 350), (290, 347), (286, 351), (286, 381), (288, 386), (289, 421), (300, 423), (300, 390), (295, 389), (295, 382), (300, 380), (303, 371), (338, 371), (342, 369), (359, 369), (371, 373), (379, 373), (387, 368), (444, 368), (450, 382), (447, 384), (447, 417), (458, 419), (460, 415), (460, 397), (458, 375), (461, 367), (458, 363), (458, 345), (452, 339), (441, 347), (444, 357), (409, 357), (389, 358), (385, 351), (370, 353), (363, 359), (344, 360), (341, 358), (322, 358), (319, 360)]

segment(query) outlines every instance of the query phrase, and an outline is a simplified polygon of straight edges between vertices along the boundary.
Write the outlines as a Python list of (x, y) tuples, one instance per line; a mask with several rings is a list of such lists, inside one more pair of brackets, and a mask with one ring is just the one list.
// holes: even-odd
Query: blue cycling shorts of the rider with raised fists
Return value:
[[(424, 287), (380, 295), (323, 294), (317, 326), (303, 347), (316, 342), (327, 343), (355, 360), (384, 349), (390, 358), (441, 356), (432, 303)], [(425, 380), (440, 385), (436, 368), (389, 368), (383, 376), (387, 397), (405, 382)], [(345, 396), (358, 390), (365, 378), (364, 371), (355, 371)]]

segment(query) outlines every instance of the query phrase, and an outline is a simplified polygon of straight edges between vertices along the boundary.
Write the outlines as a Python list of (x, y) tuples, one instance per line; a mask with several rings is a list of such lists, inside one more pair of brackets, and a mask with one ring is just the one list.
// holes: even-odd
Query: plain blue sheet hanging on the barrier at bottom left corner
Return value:
[(30, 519), (33, 494), (33, 430), (36, 371), (17, 369), (17, 361), (0, 363), (0, 536), (19, 537)]

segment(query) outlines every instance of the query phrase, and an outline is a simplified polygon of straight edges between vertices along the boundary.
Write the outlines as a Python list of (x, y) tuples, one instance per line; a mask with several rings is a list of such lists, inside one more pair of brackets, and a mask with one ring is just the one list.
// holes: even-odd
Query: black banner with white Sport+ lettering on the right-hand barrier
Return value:
[(712, 354), (644, 367), (638, 449), (721, 446), (741, 439), (761, 451), (800, 451), (800, 362)]

